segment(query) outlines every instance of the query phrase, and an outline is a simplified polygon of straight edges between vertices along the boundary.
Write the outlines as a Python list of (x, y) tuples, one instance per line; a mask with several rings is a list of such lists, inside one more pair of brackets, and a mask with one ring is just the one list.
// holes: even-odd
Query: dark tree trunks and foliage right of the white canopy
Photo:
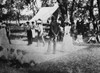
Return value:
[[(73, 24), (76, 18), (95, 21), (100, 19), (100, 1), (99, 0), (57, 0), (62, 14), (70, 15), (70, 22)], [(99, 17), (94, 15), (94, 9), (97, 8)], [(65, 12), (65, 13), (64, 13)]]

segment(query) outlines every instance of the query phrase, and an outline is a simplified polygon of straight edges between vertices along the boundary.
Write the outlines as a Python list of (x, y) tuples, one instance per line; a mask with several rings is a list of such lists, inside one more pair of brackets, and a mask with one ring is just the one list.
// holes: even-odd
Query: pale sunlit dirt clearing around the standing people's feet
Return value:
[(51, 59), (56, 59), (86, 47), (73, 45), (72, 38), (68, 35), (64, 37), (63, 42), (57, 43), (56, 54), (52, 54), (53, 44), (51, 45), (50, 52), (47, 53), (48, 42), (46, 42), (45, 46), (43, 46), (43, 44), (40, 43), (38, 47), (37, 42), (34, 41), (31, 45), (28, 46), (26, 38), (12, 40), (12, 43), (13, 48), (21, 49), (27, 52), (27, 54), (24, 56), (24, 61), (28, 62), (30, 60), (34, 60), (36, 63), (42, 63)]

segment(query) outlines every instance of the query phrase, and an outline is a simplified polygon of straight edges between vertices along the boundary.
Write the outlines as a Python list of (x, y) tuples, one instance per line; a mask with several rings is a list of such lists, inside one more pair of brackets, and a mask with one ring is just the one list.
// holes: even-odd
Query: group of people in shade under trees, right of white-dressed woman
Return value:
[(100, 21), (93, 20), (77, 20), (76, 24), (71, 28), (74, 33), (74, 39), (77, 39), (78, 35), (82, 35), (82, 39), (88, 38), (87, 43), (100, 43)]

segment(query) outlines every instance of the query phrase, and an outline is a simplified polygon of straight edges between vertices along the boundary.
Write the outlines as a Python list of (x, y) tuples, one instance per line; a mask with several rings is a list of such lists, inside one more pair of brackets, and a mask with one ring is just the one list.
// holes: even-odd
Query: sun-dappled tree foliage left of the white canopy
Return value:
[[(22, 19), (22, 16), (28, 17), (26, 15), (21, 15), (21, 11), (28, 9), (28, 11), (33, 10), (33, 15), (37, 13), (39, 8), (37, 7), (36, 0), (0, 0), (0, 19), (1, 20), (18, 20)], [(4, 3), (5, 1), (5, 3)], [(6, 9), (6, 13), (4, 11)], [(33, 16), (32, 15), (32, 16)], [(24, 19), (24, 18), (23, 18)]]

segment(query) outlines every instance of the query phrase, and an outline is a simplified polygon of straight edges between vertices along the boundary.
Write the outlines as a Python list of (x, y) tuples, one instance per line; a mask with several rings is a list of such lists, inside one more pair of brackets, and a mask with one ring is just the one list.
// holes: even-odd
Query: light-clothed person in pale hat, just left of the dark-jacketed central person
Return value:
[(44, 40), (44, 32), (43, 32), (43, 23), (42, 23), (42, 20), (41, 19), (38, 19), (37, 20), (37, 46), (39, 46), (39, 42), (40, 42), (40, 38), (42, 39), (42, 42), (43, 42), (43, 46), (45, 45), (45, 40)]

